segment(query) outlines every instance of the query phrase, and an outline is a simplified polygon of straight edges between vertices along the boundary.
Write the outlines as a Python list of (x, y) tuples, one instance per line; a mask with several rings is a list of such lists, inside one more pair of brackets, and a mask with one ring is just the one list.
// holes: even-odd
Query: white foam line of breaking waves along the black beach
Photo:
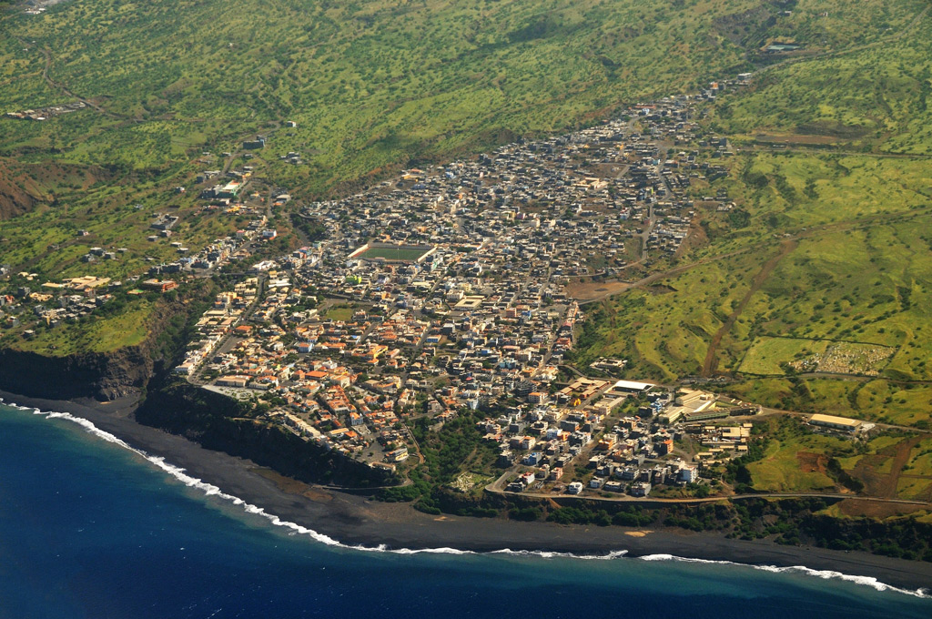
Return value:
[[(76, 423), (77, 425), (84, 428), (87, 432), (97, 436), (108, 443), (116, 444), (120, 447), (129, 449), (130, 451), (140, 455), (146, 461), (151, 462), (159, 469), (171, 475), (178, 481), (185, 484), (189, 488), (196, 488), (203, 492), (206, 496), (217, 497), (223, 499), (227, 502), (231, 502), (234, 505), (237, 505), (242, 508), (247, 514), (253, 514), (255, 516), (263, 516), (266, 518), (272, 525), (276, 527), (282, 527), (284, 529), (290, 530), (290, 534), (300, 534), (308, 535), (311, 539), (324, 543), (329, 546), (337, 546), (341, 548), (347, 548), (349, 550), (357, 550), (362, 552), (388, 552), (396, 555), (419, 555), (419, 554), (432, 554), (432, 555), (478, 555), (482, 553), (476, 553), (472, 550), (459, 550), (457, 548), (388, 548), (385, 544), (379, 544), (377, 546), (364, 546), (364, 545), (350, 545), (346, 543), (340, 543), (328, 535), (324, 535), (316, 530), (308, 529), (303, 527), (295, 522), (290, 522), (288, 520), (282, 520), (279, 516), (274, 514), (268, 514), (266, 510), (256, 505), (245, 502), (239, 497), (233, 496), (232, 494), (227, 494), (220, 488), (204, 482), (197, 477), (192, 475), (187, 475), (185, 469), (174, 466), (165, 461), (164, 458), (160, 456), (152, 456), (146, 453), (142, 449), (136, 447), (131, 447), (128, 443), (118, 438), (112, 433), (101, 430), (91, 421), (83, 419), (81, 417), (76, 417), (71, 413), (58, 413), (58, 412), (45, 412), (41, 411), (38, 408), (29, 407), (29, 406), (19, 406), (12, 403), (7, 403), (3, 398), (0, 398), (0, 403), (11, 408), (17, 408), (19, 410), (29, 410), (32, 411), (35, 415), (41, 415), (47, 419), (61, 419), (68, 420)], [(511, 550), (509, 548), (502, 548), (500, 550), (493, 550), (486, 554), (489, 555), (511, 555), (515, 557), (541, 557), (541, 558), (557, 558), (557, 557), (566, 557), (566, 558), (575, 558), (575, 559), (587, 559), (587, 560), (611, 560), (622, 558), (627, 555), (626, 550), (616, 550), (605, 555), (576, 555), (573, 553), (559, 553), (559, 552), (548, 552), (548, 551), (532, 551), (532, 550)], [(679, 561), (684, 563), (710, 563), (710, 564), (720, 564), (720, 565), (734, 565), (739, 567), (750, 567), (755, 570), (761, 571), (770, 571), (774, 573), (781, 572), (790, 572), (790, 573), (802, 573), (808, 576), (815, 576), (816, 578), (823, 579), (839, 579), (850, 583), (855, 583), (857, 585), (866, 585), (870, 586), (878, 591), (895, 591), (897, 593), (906, 594), (909, 596), (915, 596), (917, 598), (932, 598), (932, 593), (928, 589), (904, 589), (896, 587), (893, 585), (886, 585), (881, 583), (876, 578), (870, 576), (854, 576), (851, 574), (845, 574), (840, 571), (830, 571), (830, 570), (813, 570), (802, 565), (780, 568), (774, 565), (752, 565), (745, 563), (736, 563), (734, 561), (715, 561), (710, 559), (703, 558), (690, 558), (690, 557), (676, 557), (674, 555), (646, 555), (644, 557), (637, 557), (642, 561)]]

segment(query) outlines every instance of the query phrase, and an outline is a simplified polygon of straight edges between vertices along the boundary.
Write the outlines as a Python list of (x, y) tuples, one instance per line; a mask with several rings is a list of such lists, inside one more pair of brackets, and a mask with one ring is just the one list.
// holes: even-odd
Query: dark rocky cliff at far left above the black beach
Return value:
[(0, 389), (54, 400), (114, 400), (139, 392), (152, 377), (154, 362), (149, 349), (143, 344), (67, 357), (0, 350)]

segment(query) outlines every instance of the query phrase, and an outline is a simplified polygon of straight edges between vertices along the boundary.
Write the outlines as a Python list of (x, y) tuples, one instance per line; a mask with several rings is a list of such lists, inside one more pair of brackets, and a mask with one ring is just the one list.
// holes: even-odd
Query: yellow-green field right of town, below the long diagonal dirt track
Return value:
[[(582, 358), (622, 355), (637, 372), (662, 379), (716, 369), (779, 375), (780, 362), (794, 361), (797, 351), (754, 367), (761, 350), (748, 351), (759, 338), (834, 339), (876, 351), (870, 363), (853, 359), (841, 373), (932, 378), (923, 353), (932, 346), (932, 233), (919, 225), (926, 216), (856, 216), (793, 240), (746, 241), (745, 249), (692, 265), (686, 258), (657, 282), (664, 289), (630, 288), (589, 306), (596, 324), (581, 340)], [(817, 371), (842, 369), (830, 363)]]

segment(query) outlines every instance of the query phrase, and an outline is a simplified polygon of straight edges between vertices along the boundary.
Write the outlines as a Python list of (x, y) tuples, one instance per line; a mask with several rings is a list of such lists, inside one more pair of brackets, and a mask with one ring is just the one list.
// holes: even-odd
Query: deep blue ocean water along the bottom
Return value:
[(72, 420), (0, 406), (2, 619), (932, 616), (877, 585), (657, 558), (322, 543)]

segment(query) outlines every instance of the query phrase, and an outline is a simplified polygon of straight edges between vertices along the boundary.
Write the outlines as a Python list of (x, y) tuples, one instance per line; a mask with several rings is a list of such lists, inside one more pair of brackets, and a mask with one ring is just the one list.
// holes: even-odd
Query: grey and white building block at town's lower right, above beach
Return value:
[[(697, 483), (705, 468), (747, 453), (750, 423), (669, 423), (665, 411), (678, 406), (682, 392), (667, 392), (649, 383), (580, 378), (557, 393), (559, 399), (551, 404), (535, 404), (528, 398), (498, 419), (480, 422), (486, 439), (500, 447), (498, 465), (514, 474), (506, 491), (645, 497), (657, 486)], [(703, 396), (715, 401), (710, 393)], [(629, 397), (636, 397), (641, 405), (637, 417), (620, 412)], [(755, 411), (722, 406), (719, 412), (727, 418)], [(686, 434), (704, 449), (694, 461), (674, 447), (674, 441)], [(562, 480), (570, 466), (577, 481), (565, 484)]]

